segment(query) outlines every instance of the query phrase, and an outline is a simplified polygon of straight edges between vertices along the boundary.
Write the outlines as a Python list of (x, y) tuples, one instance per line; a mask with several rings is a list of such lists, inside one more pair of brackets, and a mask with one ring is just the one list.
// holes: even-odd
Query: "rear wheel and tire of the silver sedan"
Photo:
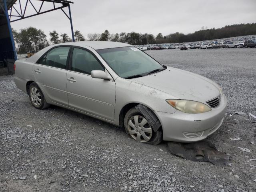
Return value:
[(45, 109), (49, 106), (44, 99), (44, 94), (36, 83), (31, 83), (28, 90), (30, 101), (35, 108)]

